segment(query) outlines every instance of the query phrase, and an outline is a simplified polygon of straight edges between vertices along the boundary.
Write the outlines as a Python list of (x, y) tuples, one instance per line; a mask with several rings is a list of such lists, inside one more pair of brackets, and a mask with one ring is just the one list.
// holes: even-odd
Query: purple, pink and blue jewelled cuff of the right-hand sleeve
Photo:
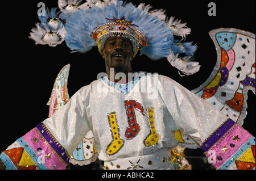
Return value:
[(255, 169), (255, 137), (231, 119), (216, 129), (201, 148), (216, 169)]

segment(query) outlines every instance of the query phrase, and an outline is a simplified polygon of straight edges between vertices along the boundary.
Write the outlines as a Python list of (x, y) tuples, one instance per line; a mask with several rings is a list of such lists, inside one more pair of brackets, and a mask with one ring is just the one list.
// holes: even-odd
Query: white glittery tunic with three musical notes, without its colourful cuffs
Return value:
[(126, 85), (102, 78), (82, 87), (43, 123), (70, 155), (92, 131), (98, 158), (114, 161), (174, 149), (179, 129), (196, 148), (226, 119), (171, 78), (140, 73)]

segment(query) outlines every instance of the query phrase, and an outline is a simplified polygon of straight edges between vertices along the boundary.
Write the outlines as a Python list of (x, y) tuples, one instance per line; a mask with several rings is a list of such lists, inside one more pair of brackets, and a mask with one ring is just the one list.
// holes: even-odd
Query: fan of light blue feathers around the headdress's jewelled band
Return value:
[(108, 23), (106, 18), (121, 18), (125, 15), (126, 20), (136, 24), (148, 41), (148, 47), (143, 47), (141, 53), (145, 54), (152, 60), (158, 60), (167, 57), (170, 51), (174, 53), (185, 53), (192, 55), (197, 46), (192, 43), (183, 43), (183, 51), (175, 45), (176, 40), (168, 26), (164, 22), (152, 15), (148, 15), (141, 9), (135, 7), (132, 3), (123, 3), (117, 1), (117, 5), (110, 4), (103, 9), (93, 7), (87, 10), (77, 11), (67, 20), (65, 28), (67, 35), (65, 41), (71, 50), (81, 53), (88, 52), (97, 44), (94, 42), (90, 33), (103, 23)]

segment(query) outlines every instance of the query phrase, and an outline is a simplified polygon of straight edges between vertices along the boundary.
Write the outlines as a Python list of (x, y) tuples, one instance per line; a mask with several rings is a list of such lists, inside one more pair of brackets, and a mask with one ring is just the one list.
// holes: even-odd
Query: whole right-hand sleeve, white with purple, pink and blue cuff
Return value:
[(159, 86), (181, 133), (200, 145), (216, 169), (255, 169), (255, 137), (170, 78), (160, 78)]

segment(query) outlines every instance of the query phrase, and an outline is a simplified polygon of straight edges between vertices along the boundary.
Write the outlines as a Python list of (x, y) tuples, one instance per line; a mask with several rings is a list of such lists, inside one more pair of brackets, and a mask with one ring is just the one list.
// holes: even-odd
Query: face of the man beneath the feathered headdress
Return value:
[(130, 68), (133, 59), (133, 45), (125, 37), (110, 37), (102, 49), (102, 57), (108, 68), (122, 72)]

